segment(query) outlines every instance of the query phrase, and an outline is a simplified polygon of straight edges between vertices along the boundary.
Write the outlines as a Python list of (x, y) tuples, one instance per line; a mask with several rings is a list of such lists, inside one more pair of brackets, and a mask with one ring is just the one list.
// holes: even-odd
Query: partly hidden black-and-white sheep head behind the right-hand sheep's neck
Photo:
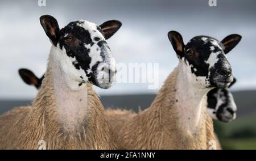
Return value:
[[(231, 87), (236, 79), (230, 84)], [(228, 88), (214, 88), (207, 94), (207, 113), (215, 120), (230, 122), (236, 119), (237, 105)]]

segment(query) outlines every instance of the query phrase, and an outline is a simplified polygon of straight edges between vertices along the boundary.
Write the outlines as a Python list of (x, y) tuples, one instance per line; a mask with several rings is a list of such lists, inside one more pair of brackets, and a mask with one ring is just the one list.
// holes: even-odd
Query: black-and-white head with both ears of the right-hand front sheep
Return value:
[(233, 81), (232, 67), (225, 54), (240, 42), (240, 35), (229, 35), (222, 41), (209, 36), (196, 36), (186, 45), (179, 32), (168, 32), (168, 38), (179, 61), (187, 66), (191, 81), (199, 83), (200, 87), (225, 88)]

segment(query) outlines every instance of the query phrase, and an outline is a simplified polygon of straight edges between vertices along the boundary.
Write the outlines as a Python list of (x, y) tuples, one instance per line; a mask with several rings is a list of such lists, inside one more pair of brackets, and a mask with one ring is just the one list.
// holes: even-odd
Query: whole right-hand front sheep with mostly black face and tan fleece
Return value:
[[(237, 34), (218, 41), (196, 36), (187, 45), (176, 31), (168, 38), (179, 59), (149, 108), (138, 114), (106, 111), (119, 149), (216, 149), (213, 122), (207, 114), (207, 92), (233, 81), (225, 54), (241, 40)], [(125, 116), (126, 118), (123, 118)]]

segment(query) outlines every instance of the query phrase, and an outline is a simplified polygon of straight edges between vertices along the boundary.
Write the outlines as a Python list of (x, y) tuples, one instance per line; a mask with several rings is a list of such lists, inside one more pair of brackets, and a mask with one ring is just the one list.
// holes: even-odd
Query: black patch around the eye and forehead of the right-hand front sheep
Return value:
[[(208, 40), (204, 41), (205, 37)], [(205, 61), (208, 60), (211, 53), (222, 52), (222, 49), (214, 46), (210, 40), (215, 40), (221, 46), (220, 42), (213, 37), (209, 36), (196, 36), (184, 48), (184, 58), (189, 62), (191, 66), (191, 72), (197, 77), (207, 77), (209, 73), (209, 64)], [(214, 46), (214, 50), (210, 50), (210, 47)]]

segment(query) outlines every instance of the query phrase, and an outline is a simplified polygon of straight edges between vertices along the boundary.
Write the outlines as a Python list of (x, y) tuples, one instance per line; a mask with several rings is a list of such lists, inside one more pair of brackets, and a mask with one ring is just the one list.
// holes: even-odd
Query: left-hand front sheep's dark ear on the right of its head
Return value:
[(122, 23), (118, 20), (109, 20), (100, 25), (100, 28), (104, 32), (105, 39), (109, 39), (115, 32), (122, 26)]

